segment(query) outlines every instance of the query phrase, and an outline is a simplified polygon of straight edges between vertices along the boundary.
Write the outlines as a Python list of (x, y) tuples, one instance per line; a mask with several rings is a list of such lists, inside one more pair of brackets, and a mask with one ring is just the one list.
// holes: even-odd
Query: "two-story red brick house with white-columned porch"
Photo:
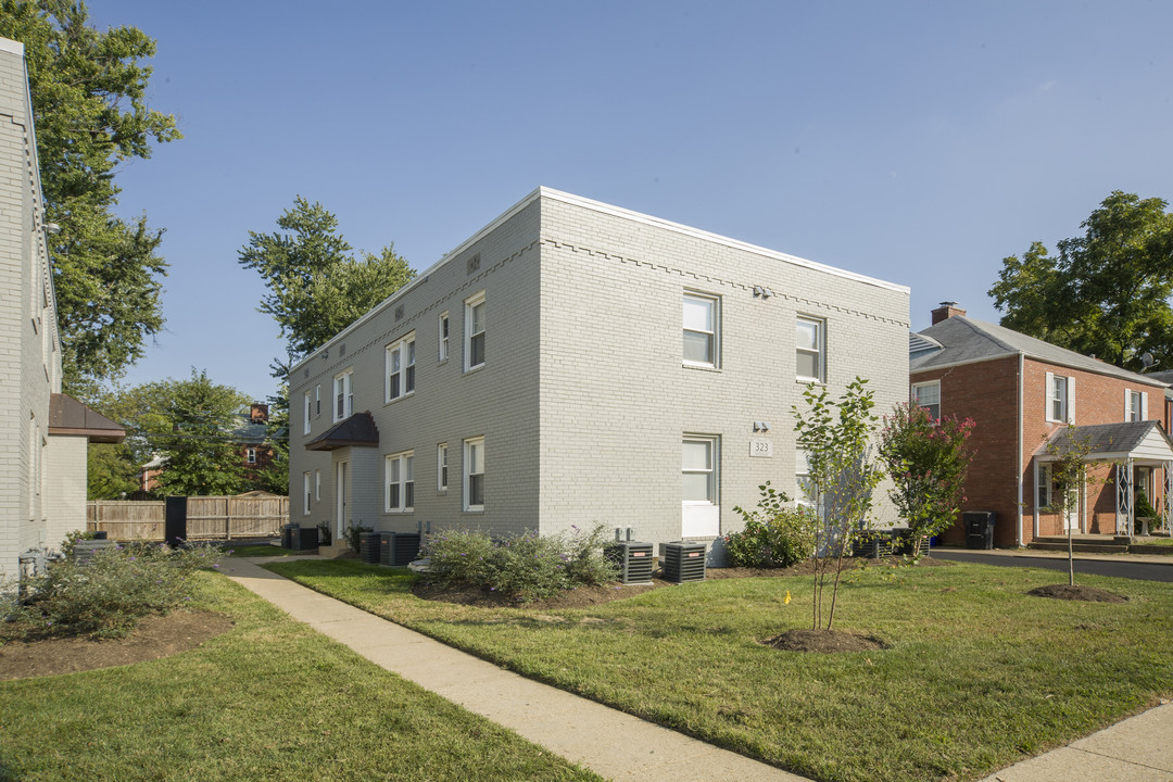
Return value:
[[(913, 401), (933, 415), (976, 422), (962, 510), (997, 514), (996, 546), (1026, 545), (1069, 525), (1080, 533), (1125, 533), (1140, 489), (1168, 517), (1167, 382), (972, 320), (952, 301), (933, 311), (929, 328), (909, 335), (909, 381)], [(1079, 440), (1092, 440), (1092, 458), (1103, 467), (1064, 519), (1040, 508), (1053, 491), (1046, 444), (1064, 447), (1069, 426)], [(957, 523), (942, 542), (964, 538)]]

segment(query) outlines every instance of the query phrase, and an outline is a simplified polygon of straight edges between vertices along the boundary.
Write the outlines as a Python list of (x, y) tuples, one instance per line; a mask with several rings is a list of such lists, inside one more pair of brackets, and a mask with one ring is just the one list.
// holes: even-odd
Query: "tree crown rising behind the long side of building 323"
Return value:
[(239, 263), (255, 268), (269, 287), (260, 312), (272, 315), (286, 338), (273, 376), (285, 378), (300, 359), (406, 285), (415, 272), (388, 245), (361, 252), (338, 233), (338, 218), (298, 196), (277, 219), (273, 233), (249, 232)]

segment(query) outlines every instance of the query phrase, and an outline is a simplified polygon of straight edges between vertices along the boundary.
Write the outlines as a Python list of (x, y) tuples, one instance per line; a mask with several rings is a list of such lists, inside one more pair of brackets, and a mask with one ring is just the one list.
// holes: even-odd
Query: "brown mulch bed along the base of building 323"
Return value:
[[(850, 559), (845, 570), (855, 567), (891, 567), (899, 559)], [(938, 565), (952, 566), (954, 563), (943, 559), (921, 559), (917, 567), (935, 567)], [(440, 600), (443, 603), (456, 603), (479, 607), (515, 607), (527, 610), (556, 611), (561, 608), (585, 608), (592, 605), (622, 600), (624, 598), (643, 594), (651, 590), (665, 586), (679, 586), (672, 582), (665, 582), (660, 576), (663, 571), (657, 570), (650, 584), (618, 585), (606, 584), (602, 586), (579, 586), (578, 589), (563, 592), (560, 596), (537, 600), (535, 603), (517, 603), (500, 592), (491, 592), (472, 584), (457, 583), (448, 586), (432, 584), (427, 577), (415, 582), (412, 593), (425, 600)], [(799, 563), (793, 567), (710, 567), (705, 570), (706, 579), (721, 578), (780, 578), (784, 576), (812, 576), (814, 574), (813, 560)]]

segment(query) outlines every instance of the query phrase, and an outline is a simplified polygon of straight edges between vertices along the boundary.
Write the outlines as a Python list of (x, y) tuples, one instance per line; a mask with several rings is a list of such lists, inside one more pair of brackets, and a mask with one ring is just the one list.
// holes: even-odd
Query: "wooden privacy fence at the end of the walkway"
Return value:
[[(188, 497), (188, 539), (279, 537), (289, 515), (289, 497)], [(91, 501), (86, 529), (115, 540), (162, 540), (163, 501)]]

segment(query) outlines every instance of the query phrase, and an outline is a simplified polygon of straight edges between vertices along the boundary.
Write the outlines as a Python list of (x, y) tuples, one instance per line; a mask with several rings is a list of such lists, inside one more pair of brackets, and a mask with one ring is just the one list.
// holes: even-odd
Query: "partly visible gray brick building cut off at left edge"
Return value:
[[(114, 422), (61, 393), (49, 267), (23, 46), (0, 39), (0, 589), (21, 555), (86, 529), (86, 450), (117, 442)], [(40, 557), (33, 557), (43, 562)]]

